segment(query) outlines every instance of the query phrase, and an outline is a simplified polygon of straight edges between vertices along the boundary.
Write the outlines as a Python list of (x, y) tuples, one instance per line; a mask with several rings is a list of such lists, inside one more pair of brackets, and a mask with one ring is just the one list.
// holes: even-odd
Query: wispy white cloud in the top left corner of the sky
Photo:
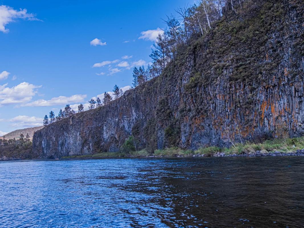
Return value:
[(0, 5), (0, 31), (8, 33), (9, 29), (5, 26), (10, 22), (14, 22), (14, 19), (27, 19), (29, 21), (40, 21), (32, 13), (27, 13), (26, 9), (15, 10), (8, 5)]

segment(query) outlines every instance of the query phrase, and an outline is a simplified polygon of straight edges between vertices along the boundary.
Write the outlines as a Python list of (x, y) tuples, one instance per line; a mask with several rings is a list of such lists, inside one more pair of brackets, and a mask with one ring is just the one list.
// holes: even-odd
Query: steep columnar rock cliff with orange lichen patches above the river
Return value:
[(302, 0), (268, 0), (223, 18), (161, 76), (37, 131), (32, 157), (117, 151), (130, 135), (148, 150), (302, 135), (303, 13)]

